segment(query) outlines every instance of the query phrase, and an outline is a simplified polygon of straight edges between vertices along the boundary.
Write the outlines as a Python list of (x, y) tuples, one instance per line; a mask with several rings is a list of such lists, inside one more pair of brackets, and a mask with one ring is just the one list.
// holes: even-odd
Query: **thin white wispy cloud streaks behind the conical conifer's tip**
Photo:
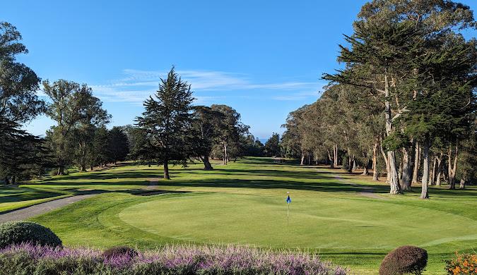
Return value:
[[(165, 71), (141, 71), (126, 69), (122, 71), (124, 77), (118, 80), (93, 85), (95, 94), (105, 102), (131, 102), (140, 104), (157, 89), (160, 79), (166, 77)], [(194, 92), (213, 91), (275, 91), (281, 95), (270, 94), (270, 99), (275, 100), (300, 100), (307, 97), (317, 97), (322, 85), (319, 82), (254, 82), (248, 75), (240, 73), (227, 73), (222, 71), (177, 71), (183, 80), (192, 85)], [(220, 96), (195, 95), (197, 104), (206, 104)]]

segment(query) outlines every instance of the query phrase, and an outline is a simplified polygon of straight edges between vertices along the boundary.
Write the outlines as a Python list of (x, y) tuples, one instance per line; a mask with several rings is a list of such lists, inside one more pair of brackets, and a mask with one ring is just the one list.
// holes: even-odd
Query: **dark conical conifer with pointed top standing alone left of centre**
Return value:
[(161, 80), (155, 98), (149, 97), (144, 102), (143, 116), (136, 118), (137, 125), (146, 134), (146, 146), (151, 152), (146, 157), (154, 156), (163, 164), (165, 179), (170, 179), (170, 161), (185, 163), (193, 154), (188, 152), (193, 138), (193, 101), (190, 85), (181, 80), (172, 67), (167, 78)]

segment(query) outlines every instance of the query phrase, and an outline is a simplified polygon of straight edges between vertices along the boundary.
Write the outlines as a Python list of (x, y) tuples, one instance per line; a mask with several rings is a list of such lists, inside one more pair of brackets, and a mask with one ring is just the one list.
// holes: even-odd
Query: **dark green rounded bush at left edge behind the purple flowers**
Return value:
[(20, 243), (61, 246), (58, 236), (40, 224), (30, 221), (9, 221), (0, 224), (0, 248)]

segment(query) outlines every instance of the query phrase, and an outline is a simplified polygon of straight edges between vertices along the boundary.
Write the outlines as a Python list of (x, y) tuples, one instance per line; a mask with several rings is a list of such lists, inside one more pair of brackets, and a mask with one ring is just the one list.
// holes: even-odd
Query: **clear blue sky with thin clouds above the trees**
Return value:
[[(19, 61), (43, 80), (93, 87), (110, 126), (134, 123), (174, 65), (196, 104), (228, 104), (267, 138), (282, 133), (290, 111), (319, 97), (320, 76), (338, 68), (338, 43), (364, 3), (11, 0), (0, 20), (23, 35), (30, 53)], [(41, 117), (27, 128), (42, 135), (51, 125)]]

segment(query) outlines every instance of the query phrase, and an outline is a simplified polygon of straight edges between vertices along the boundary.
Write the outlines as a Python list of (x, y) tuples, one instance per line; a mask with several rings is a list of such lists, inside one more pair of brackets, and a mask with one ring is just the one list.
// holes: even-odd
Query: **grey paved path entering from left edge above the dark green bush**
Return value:
[(60, 207), (64, 207), (68, 204), (72, 204), (73, 202), (79, 202), (80, 200), (85, 200), (88, 197), (93, 197), (97, 194), (88, 194), (88, 195), (76, 195), (72, 197), (64, 197), (58, 200), (52, 200), (50, 202), (43, 202), (40, 204), (35, 204), (30, 207), (26, 207), (23, 209), (13, 210), (12, 212), (8, 212), (5, 214), (0, 214), (0, 223), (5, 221), (23, 221), (25, 219), (30, 219), (33, 216), (38, 216), (41, 214), (45, 214), (50, 212), (54, 209), (58, 209)]

